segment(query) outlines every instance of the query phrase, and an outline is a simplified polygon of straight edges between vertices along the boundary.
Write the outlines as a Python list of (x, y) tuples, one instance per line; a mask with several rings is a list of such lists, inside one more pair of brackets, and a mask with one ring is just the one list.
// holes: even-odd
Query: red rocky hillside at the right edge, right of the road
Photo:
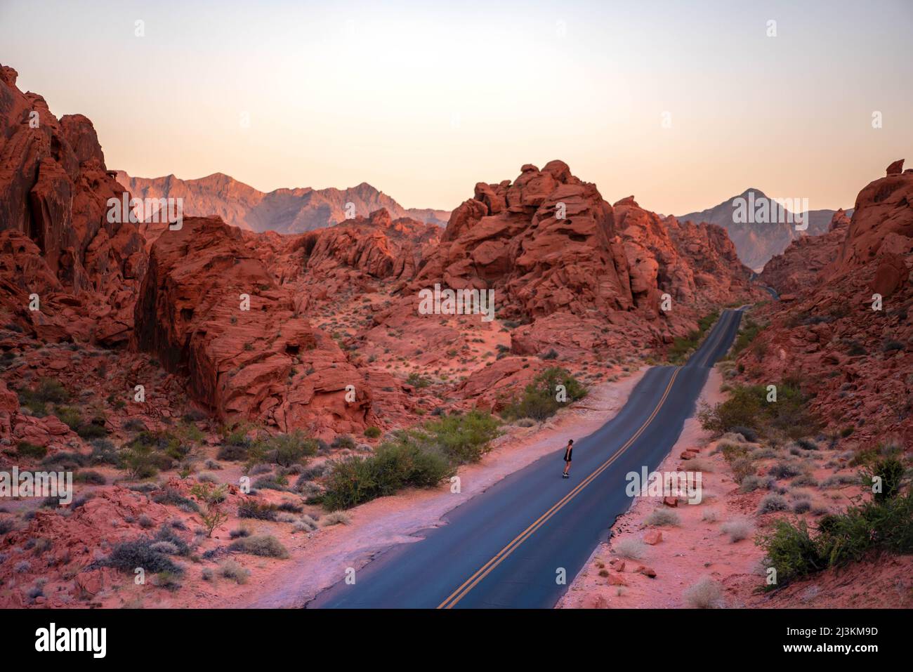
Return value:
[(863, 447), (913, 446), (911, 190), (913, 172), (889, 168), (859, 193), (850, 222), (835, 215), (830, 233), (771, 260), (771, 284), (792, 300), (761, 311), (770, 324), (740, 355), (752, 380), (798, 376), (813, 410), (832, 428), (852, 425)]

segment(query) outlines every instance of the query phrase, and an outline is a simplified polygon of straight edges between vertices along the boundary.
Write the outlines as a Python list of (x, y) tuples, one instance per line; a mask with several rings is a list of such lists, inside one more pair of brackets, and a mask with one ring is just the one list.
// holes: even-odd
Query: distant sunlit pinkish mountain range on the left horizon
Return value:
[(355, 216), (368, 216), (383, 207), (394, 219), (410, 217), (446, 226), (450, 218), (447, 210), (404, 208), (363, 182), (348, 189), (301, 187), (264, 193), (225, 173), (181, 180), (174, 175), (131, 177), (118, 171), (117, 181), (135, 198), (182, 198), (185, 216), (219, 215), (226, 224), (257, 232), (297, 234), (338, 224), (346, 219), (346, 204), (350, 203)]

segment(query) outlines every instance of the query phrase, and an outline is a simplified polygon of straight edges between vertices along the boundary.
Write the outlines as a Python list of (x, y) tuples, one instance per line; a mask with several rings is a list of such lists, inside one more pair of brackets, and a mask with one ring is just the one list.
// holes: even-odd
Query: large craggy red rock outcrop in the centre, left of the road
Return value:
[[(521, 170), (513, 183), (476, 185), (411, 290), (493, 289), (504, 318), (635, 312), (660, 342), (710, 303), (750, 294), (750, 271), (719, 227), (663, 221), (633, 197), (609, 205), (561, 161)], [(677, 313), (660, 310), (664, 293)]]

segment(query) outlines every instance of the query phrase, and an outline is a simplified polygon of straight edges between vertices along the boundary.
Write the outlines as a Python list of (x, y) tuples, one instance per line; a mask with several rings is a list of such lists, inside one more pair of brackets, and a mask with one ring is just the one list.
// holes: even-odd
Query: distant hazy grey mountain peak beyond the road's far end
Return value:
[[(744, 202), (737, 201), (740, 198), (744, 199)], [(722, 226), (736, 246), (741, 262), (760, 272), (771, 257), (782, 254), (783, 250), (789, 247), (789, 244), (796, 238), (820, 236), (827, 233), (831, 219), (837, 212), (836, 210), (809, 210), (808, 228), (803, 231), (796, 229), (794, 215), (788, 209), (782, 208), (772, 201), (770, 203), (773, 216), (767, 217), (766, 222), (746, 222), (744, 217), (737, 218), (737, 208), (749, 203), (760, 204), (761, 199), (767, 198), (768, 196), (760, 189), (746, 189), (719, 205), (698, 213), (679, 215), (677, 219), (680, 222), (691, 221), (695, 224), (708, 222), (708, 224)], [(852, 215), (853, 211), (846, 211), (846, 214), (847, 216)], [(771, 220), (774, 223), (771, 223)]]

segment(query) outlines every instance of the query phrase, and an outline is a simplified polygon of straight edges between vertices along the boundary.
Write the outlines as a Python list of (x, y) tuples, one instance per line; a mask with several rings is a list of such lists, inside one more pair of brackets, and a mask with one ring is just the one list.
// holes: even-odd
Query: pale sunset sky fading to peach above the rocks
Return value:
[(852, 207), (913, 167), (911, 35), (911, 0), (0, 0), (0, 63), (110, 169), (446, 209), (551, 159), (663, 214)]

